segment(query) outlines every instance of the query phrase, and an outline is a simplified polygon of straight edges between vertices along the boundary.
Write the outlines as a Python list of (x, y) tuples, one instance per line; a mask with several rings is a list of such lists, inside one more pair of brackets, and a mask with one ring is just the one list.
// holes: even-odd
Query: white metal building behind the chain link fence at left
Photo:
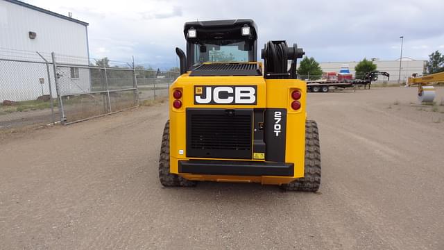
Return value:
[[(32, 69), (31, 63), (18, 63), (15, 70), (7, 71), (6, 63), (10, 61), (6, 60), (26, 61), (31, 58), (35, 61), (39, 59), (39, 56), (33, 53), (38, 51), (50, 62), (50, 54), (54, 52), (60, 55), (57, 58), (58, 63), (73, 63), (73, 58), (75, 58), (76, 64), (88, 65), (87, 26), (86, 22), (22, 1), (0, 0), (0, 68), (2, 68), (0, 101), (35, 99), (41, 93), (27, 92), (26, 88), (29, 88), (31, 84), (28, 82), (37, 83), (40, 78), (45, 78), (47, 82), (48, 77), (44, 74), (45, 72)], [(69, 70), (69, 78), (82, 89), (79, 92), (89, 91), (89, 72), (79, 71), (78, 68), (73, 67)], [(54, 95), (56, 93), (54, 84), (51, 89)], [(22, 94), (18, 95), (19, 92)]]

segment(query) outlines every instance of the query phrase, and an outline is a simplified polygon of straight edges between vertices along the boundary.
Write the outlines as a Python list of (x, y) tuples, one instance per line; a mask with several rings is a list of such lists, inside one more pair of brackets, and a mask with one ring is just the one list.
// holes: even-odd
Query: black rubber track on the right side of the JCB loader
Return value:
[(321, 149), (319, 146), (318, 125), (315, 121), (305, 122), (305, 173), (287, 185), (284, 190), (316, 192), (321, 185)]

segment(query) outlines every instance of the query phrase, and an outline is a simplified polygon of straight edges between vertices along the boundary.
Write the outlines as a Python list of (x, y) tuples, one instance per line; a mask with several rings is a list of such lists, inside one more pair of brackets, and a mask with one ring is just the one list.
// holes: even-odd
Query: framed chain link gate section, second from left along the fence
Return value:
[(139, 105), (135, 69), (130, 65), (101, 67), (87, 58), (57, 54), (53, 62), (64, 124)]

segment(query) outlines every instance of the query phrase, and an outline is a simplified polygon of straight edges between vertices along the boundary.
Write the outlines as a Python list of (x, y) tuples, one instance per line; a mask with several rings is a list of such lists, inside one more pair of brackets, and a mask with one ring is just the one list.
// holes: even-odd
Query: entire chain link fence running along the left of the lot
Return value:
[(178, 72), (0, 48), (0, 129), (70, 124), (168, 97)]

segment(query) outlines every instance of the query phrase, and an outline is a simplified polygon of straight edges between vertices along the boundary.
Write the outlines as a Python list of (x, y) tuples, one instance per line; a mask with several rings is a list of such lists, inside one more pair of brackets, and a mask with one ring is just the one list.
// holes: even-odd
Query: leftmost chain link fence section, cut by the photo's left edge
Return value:
[(0, 129), (58, 121), (51, 55), (0, 48)]

